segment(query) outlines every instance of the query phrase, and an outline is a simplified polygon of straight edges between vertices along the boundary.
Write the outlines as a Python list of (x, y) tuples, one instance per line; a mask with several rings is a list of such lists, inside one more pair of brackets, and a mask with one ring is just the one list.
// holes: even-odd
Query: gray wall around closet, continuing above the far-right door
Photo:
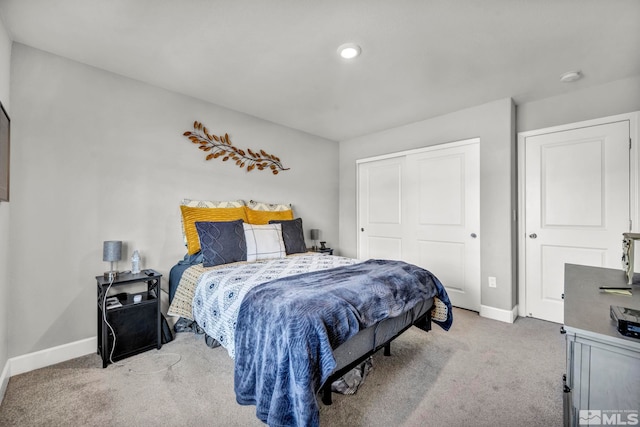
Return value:
[[(511, 108), (509, 100), (454, 112), (340, 143), (341, 254), (356, 255), (357, 159), (480, 137), (481, 304), (517, 303), (516, 132), (640, 111), (640, 76)], [(495, 276), (498, 287), (487, 286)]]

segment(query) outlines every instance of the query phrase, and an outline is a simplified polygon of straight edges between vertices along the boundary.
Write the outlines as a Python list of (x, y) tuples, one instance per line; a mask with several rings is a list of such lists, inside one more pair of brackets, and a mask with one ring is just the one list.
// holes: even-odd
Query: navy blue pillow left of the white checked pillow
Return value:
[(225, 222), (196, 222), (202, 265), (229, 264), (247, 260), (247, 242), (241, 219)]

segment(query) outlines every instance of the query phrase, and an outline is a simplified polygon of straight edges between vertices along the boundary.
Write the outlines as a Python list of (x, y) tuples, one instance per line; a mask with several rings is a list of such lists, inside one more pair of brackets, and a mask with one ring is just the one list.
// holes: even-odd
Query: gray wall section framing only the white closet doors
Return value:
[[(511, 99), (340, 142), (340, 254), (357, 252), (356, 160), (475, 137), (480, 138), (481, 304), (511, 310), (516, 303)], [(496, 277), (496, 288), (487, 286), (488, 276)]]

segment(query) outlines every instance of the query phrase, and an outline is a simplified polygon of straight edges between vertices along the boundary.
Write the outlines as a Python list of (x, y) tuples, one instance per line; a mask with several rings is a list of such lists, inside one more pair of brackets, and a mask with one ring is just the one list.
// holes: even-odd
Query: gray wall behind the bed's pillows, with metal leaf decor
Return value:
[[(11, 64), (9, 356), (96, 335), (104, 240), (126, 244), (119, 269), (138, 249), (143, 268), (168, 276), (185, 253), (184, 197), (291, 203), (306, 230), (337, 242), (336, 142), (17, 43)], [(182, 136), (194, 120), (291, 170), (205, 161)]]

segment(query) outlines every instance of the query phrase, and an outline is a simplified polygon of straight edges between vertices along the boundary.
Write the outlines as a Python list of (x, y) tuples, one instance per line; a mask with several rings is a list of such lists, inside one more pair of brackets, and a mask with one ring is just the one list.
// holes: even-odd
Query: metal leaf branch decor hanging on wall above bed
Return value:
[(246, 167), (247, 172), (254, 169), (271, 170), (271, 173), (277, 175), (280, 171), (289, 170), (282, 166), (282, 162), (277, 156), (269, 154), (264, 150), (252, 151), (247, 149), (244, 151), (231, 144), (229, 135), (217, 136), (210, 134), (207, 128), (200, 122), (193, 122), (193, 132), (185, 132), (184, 136), (189, 138), (194, 144), (198, 144), (198, 148), (207, 152), (206, 160), (217, 159), (222, 157), (222, 161), (233, 160), (241, 168)]

